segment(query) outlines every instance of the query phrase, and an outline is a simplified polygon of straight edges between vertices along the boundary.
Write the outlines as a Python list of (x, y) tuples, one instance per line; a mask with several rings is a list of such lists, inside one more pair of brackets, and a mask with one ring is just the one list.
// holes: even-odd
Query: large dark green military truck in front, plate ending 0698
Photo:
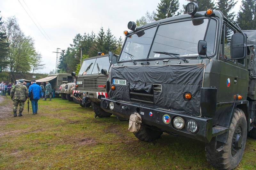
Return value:
[(221, 11), (185, 9), (140, 27), (128, 23), (101, 108), (126, 119), (139, 113), (139, 140), (166, 132), (203, 141), (212, 166), (233, 169), (247, 133), (256, 133), (255, 37), (248, 44), (248, 32)]

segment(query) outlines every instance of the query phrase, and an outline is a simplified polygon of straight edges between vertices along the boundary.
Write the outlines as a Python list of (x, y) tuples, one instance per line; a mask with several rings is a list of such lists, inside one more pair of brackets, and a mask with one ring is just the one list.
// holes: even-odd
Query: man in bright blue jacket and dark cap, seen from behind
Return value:
[(40, 99), (41, 87), (36, 84), (35, 80), (31, 80), (31, 85), (28, 88), (28, 97), (31, 100), (33, 114), (37, 114), (38, 100)]

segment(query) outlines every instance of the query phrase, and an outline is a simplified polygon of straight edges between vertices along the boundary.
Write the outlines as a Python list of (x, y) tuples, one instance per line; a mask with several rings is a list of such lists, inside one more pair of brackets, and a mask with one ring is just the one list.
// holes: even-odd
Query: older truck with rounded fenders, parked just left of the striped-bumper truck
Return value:
[(61, 84), (59, 87), (60, 90), (60, 97), (63, 100), (73, 101), (73, 95), (72, 92), (75, 90), (76, 83), (64, 83)]

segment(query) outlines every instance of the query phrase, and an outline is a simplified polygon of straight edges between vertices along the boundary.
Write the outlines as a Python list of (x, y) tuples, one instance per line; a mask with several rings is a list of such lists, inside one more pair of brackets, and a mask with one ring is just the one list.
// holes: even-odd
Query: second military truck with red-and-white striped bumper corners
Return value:
[[(116, 61), (117, 56), (114, 56)], [(73, 90), (73, 97), (80, 101), (82, 107), (90, 107), (95, 113), (95, 117), (109, 117), (112, 114), (100, 108), (101, 97), (108, 97), (106, 81), (108, 79), (109, 63), (108, 55), (100, 55), (86, 58), (81, 69), (76, 76), (76, 90)]]

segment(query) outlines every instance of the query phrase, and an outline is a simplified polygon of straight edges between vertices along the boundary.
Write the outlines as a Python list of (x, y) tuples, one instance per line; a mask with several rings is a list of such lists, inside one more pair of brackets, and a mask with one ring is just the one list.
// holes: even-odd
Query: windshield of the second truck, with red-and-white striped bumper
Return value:
[(84, 60), (78, 75), (99, 74), (101, 69), (108, 71), (109, 66), (108, 56)]

